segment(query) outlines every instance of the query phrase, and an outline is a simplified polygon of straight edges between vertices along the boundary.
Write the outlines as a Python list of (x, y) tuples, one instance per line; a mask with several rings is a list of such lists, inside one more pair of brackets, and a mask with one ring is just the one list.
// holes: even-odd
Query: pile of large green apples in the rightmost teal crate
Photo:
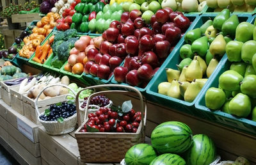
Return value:
[(219, 77), (219, 88), (209, 88), (205, 105), (239, 118), (252, 113), (256, 121), (256, 21), (241, 22), (236, 28), (236, 40), (226, 45), (230, 70)]

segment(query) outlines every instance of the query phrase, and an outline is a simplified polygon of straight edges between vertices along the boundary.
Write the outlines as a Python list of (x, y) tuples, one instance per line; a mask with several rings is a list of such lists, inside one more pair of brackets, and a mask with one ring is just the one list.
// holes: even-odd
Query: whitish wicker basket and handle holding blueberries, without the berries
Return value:
[[(50, 134), (50, 135), (67, 134), (69, 132), (72, 132), (76, 128), (77, 114), (74, 114), (73, 116), (65, 118), (63, 120), (63, 122), (61, 122), (61, 123), (58, 121), (44, 121), (39, 118), (39, 116), (41, 114), (44, 114), (44, 112), (40, 114), (40, 112), (38, 110), (38, 106), (37, 106), (38, 98), (44, 92), (45, 89), (47, 89), (51, 86), (63, 86), (65, 88), (68, 88), (68, 90), (72, 91), (72, 93), (74, 93), (74, 95), (76, 95), (76, 92), (74, 90), (72, 90), (71, 88), (69, 88), (68, 86), (63, 85), (63, 84), (52, 84), (52, 85), (46, 86), (42, 91), (40, 91), (40, 93), (37, 95), (37, 97), (35, 99), (35, 109), (36, 109), (36, 113), (38, 114), (37, 120), (40, 123), (42, 123), (42, 125), (45, 127), (47, 134)], [(56, 100), (56, 103), (63, 102), (63, 101), (65, 101), (65, 100)]]

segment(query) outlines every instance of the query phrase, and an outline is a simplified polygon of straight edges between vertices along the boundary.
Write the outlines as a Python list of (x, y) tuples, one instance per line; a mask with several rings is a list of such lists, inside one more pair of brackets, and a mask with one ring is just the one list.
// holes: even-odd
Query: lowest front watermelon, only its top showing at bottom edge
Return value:
[[(150, 165), (185, 165), (186, 162), (182, 157), (173, 153), (164, 153), (156, 157)], [(198, 164), (199, 165), (199, 164)]]

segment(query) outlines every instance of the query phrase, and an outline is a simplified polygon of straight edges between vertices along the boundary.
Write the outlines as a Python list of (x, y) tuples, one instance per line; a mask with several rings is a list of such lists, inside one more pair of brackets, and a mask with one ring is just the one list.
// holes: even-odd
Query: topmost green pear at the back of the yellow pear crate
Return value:
[[(219, 4), (219, 1), (223, 1), (223, 0), (218, 0), (218, 4)], [(230, 1), (230, 0), (227, 0), (227, 1)], [(228, 3), (229, 5), (229, 3)], [(227, 6), (228, 6), (227, 5)], [(223, 7), (223, 8), (227, 8), (226, 7)], [(221, 6), (219, 6), (221, 8)], [(221, 27), (222, 25), (224, 24), (224, 22), (230, 17), (230, 11), (228, 9), (224, 9), (220, 12), (220, 14), (218, 14), (213, 22), (212, 22), (212, 26), (218, 30), (221, 31)]]

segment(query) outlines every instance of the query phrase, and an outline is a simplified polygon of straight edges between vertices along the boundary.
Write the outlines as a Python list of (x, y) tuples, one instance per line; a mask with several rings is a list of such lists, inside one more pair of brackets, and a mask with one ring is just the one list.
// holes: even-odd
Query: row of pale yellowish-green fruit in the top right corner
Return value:
[(206, 0), (209, 8), (214, 8), (214, 12), (221, 12), (228, 8), (232, 12), (253, 12), (255, 10), (255, 0)]

